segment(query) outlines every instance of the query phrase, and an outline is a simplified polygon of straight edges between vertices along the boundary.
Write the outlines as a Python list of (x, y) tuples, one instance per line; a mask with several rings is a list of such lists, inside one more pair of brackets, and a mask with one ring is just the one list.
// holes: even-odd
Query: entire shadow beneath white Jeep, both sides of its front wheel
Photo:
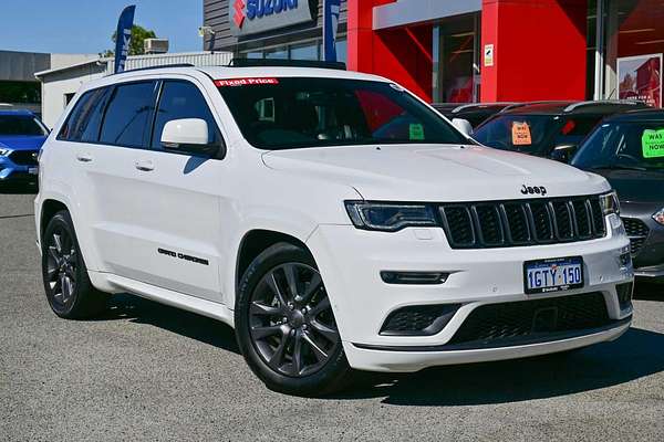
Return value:
[[(131, 320), (239, 354), (234, 330), (194, 313), (138, 296), (114, 295), (94, 320)], [(383, 398), (394, 406), (455, 407), (556, 398), (630, 382), (664, 371), (664, 334), (631, 328), (613, 343), (569, 354), (438, 367), (408, 375), (359, 373), (332, 400)]]

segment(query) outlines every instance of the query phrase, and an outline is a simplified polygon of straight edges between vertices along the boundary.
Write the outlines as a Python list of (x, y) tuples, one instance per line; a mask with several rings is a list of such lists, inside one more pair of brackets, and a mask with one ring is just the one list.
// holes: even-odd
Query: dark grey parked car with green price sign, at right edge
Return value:
[(664, 282), (664, 110), (606, 118), (572, 166), (602, 175), (618, 191), (636, 275)]

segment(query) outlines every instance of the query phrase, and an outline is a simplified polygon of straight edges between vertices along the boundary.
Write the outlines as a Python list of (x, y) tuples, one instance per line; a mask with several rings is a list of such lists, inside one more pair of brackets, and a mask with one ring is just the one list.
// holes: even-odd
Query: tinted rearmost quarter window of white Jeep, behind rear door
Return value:
[[(98, 120), (90, 127), (90, 131), (87, 130), (87, 127), (90, 126), (91, 120), (94, 119), (94, 116), (100, 116), (103, 112), (103, 97), (105, 94), (105, 88), (89, 91), (83, 94), (76, 102), (76, 105), (72, 109), (65, 124), (60, 129), (58, 139), (68, 141), (96, 141), (98, 135)], [(96, 131), (94, 126), (96, 126)]]

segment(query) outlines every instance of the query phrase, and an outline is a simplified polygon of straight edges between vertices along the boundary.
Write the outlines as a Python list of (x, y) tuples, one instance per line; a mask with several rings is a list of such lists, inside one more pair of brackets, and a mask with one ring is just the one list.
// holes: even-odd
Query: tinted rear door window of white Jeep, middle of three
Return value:
[(122, 84), (113, 91), (100, 141), (143, 147), (154, 110), (155, 82)]

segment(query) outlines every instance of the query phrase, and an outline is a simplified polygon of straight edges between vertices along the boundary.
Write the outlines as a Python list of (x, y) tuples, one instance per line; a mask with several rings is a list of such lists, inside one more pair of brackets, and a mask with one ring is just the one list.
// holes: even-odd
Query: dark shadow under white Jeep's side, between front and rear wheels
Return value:
[(226, 324), (138, 296), (111, 296), (108, 309), (94, 320), (115, 319), (152, 325), (224, 350), (240, 352), (235, 333)]

